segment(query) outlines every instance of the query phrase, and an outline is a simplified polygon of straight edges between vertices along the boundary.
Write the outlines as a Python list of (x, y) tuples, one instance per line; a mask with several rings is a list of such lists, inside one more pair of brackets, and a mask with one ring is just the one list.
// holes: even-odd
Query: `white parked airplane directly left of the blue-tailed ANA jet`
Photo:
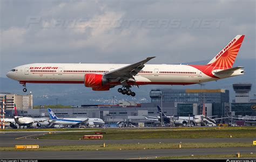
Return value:
[[(14, 117), (15, 123), (19, 126), (28, 126), (28, 127), (41, 127), (43, 125), (49, 125), (49, 121), (43, 118), (31, 118), (31, 117)], [(11, 123), (10, 126), (17, 128), (17, 125)]]

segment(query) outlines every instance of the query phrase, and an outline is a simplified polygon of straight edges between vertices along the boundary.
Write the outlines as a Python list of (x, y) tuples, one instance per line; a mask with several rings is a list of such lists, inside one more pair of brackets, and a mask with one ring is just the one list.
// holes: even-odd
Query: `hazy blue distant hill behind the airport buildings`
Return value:
[[(193, 62), (188, 64), (206, 64), (207, 61)], [(187, 63), (184, 63), (187, 64)], [(234, 66), (245, 66), (245, 75), (218, 80), (217, 82), (205, 83), (205, 89), (228, 89), (230, 90), (230, 99), (234, 99), (233, 83), (252, 83), (251, 98), (256, 93), (256, 59), (237, 59)], [(117, 86), (118, 87), (118, 86)], [(92, 91), (83, 84), (27, 84), (27, 89), (33, 94), (34, 105), (58, 104), (62, 105), (82, 105), (82, 104), (112, 104), (118, 100), (133, 100), (134, 102), (150, 102), (150, 90), (173, 88), (173, 89), (200, 89), (200, 85), (145, 85), (139, 89), (134, 86), (132, 89), (136, 92), (136, 97), (122, 95), (117, 92), (117, 87), (110, 91)], [(0, 92), (10, 92), (19, 95), (24, 94), (22, 85), (9, 78), (0, 78)]]

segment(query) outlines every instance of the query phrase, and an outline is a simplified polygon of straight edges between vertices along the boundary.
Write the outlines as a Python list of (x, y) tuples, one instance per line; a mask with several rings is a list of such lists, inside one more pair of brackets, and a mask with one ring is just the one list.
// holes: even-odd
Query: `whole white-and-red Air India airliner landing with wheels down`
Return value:
[[(146, 64), (154, 57), (147, 57), (134, 64), (35, 63), (17, 66), (6, 76), (23, 84), (24, 92), (27, 91), (26, 83), (73, 83), (84, 84), (94, 91), (108, 91), (122, 85), (118, 92), (135, 96), (130, 90), (133, 85), (188, 85), (243, 75), (244, 70), (241, 68), (244, 67), (232, 66), (244, 37), (234, 37), (206, 65)], [(190, 53), (188, 51), (188, 55)]]

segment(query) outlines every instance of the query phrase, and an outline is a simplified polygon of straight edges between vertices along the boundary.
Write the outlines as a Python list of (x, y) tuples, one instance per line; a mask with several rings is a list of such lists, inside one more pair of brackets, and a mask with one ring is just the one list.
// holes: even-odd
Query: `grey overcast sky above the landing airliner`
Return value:
[[(255, 1), (0, 1), (0, 77), (29, 63), (211, 60), (236, 35), (255, 58)], [(246, 65), (244, 65), (246, 66)]]

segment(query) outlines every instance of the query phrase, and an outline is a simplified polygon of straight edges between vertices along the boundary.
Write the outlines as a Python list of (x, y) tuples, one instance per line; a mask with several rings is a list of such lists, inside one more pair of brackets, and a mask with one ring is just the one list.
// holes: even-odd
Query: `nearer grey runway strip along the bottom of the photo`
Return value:
[(163, 149), (118, 151), (2, 151), (2, 159), (134, 159), (160, 156), (194, 156), (210, 154), (256, 153), (254, 147), (214, 149)]

